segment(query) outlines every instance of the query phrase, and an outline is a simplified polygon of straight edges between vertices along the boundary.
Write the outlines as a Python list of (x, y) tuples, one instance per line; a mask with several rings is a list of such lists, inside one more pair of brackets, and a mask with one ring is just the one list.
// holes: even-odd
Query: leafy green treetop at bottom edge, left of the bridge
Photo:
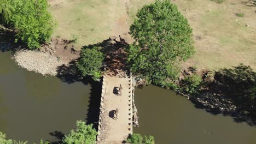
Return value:
[(95, 143), (97, 131), (92, 128), (92, 124), (86, 125), (85, 122), (77, 121), (77, 129), (71, 130), (63, 139), (63, 144), (86, 144)]

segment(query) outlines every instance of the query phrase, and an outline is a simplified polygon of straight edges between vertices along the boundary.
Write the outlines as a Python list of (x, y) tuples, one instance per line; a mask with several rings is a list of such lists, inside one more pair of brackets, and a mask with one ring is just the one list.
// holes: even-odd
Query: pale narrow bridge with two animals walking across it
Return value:
[(132, 134), (132, 106), (132, 77), (103, 76), (97, 143), (121, 143)]

